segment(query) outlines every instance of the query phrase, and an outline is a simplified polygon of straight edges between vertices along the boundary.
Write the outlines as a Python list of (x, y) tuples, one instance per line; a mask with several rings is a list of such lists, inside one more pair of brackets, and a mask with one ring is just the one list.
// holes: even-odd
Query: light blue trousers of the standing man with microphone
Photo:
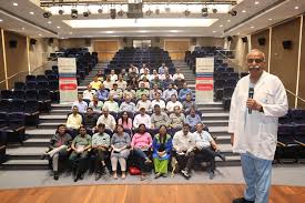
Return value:
[(241, 154), (246, 182), (244, 197), (255, 203), (267, 203), (271, 187), (272, 160), (263, 160), (246, 152)]

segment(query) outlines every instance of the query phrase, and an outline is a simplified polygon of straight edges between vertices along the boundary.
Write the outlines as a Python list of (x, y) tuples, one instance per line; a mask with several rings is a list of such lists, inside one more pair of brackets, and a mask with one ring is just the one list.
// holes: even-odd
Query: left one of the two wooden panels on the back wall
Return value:
[(96, 40), (94, 41), (94, 51), (98, 52), (100, 61), (110, 61), (115, 52), (119, 51), (119, 45), (118, 40)]

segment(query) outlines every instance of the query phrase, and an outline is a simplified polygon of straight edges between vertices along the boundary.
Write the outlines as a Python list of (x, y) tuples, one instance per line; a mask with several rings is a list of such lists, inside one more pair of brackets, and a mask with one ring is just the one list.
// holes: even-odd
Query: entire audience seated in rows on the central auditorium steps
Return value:
[[(74, 181), (83, 179), (91, 155), (95, 156), (95, 180), (110, 173), (106, 160), (111, 162), (113, 179), (118, 179), (118, 162), (121, 177), (125, 179), (131, 156), (136, 160), (141, 180), (152, 165), (155, 179), (166, 176), (170, 160), (177, 163), (172, 165), (173, 171), (190, 179), (196, 154), (207, 159), (213, 179), (215, 156), (225, 158), (201, 123), (191, 89), (183, 82), (179, 91), (172, 81), (166, 88), (164, 83), (152, 83), (150, 90), (151, 84), (141, 79), (146, 71), (145, 64), (140, 72), (131, 65), (129, 73), (122, 70), (119, 77), (111, 71), (103, 83), (96, 75), (88, 90), (78, 95), (65, 125), (58, 126), (43, 154), (52, 162), (54, 180), (59, 179), (59, 161), (68, 156)], [(157, 73), (169, 77), (164, 64)]]

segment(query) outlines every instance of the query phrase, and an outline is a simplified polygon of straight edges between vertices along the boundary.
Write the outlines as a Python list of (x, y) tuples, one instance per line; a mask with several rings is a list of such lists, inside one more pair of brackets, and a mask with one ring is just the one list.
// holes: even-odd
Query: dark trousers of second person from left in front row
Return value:
[(77, 174), (83, 173), (87, 166), (87, 151), (82, 153), (77, 153), (75, 151), (73, 151), (69, 156), (69, 161), (72, 165), (73, 172), (77, 172)]

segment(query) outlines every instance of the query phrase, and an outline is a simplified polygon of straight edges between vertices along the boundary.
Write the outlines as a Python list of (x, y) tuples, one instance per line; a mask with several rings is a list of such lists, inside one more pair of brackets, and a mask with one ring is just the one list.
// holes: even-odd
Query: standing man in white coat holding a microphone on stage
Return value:
[(264, 71), (262, 51), (252, 50), (246, 63), (250, 74), (235, 88), (228, 121), (233, 152), (241, 153), (246, 183), (244, 196), (233, 200), (233, 203), (267, 203), (278, 118), (288, 110), (287, 95), (281, 80)]

